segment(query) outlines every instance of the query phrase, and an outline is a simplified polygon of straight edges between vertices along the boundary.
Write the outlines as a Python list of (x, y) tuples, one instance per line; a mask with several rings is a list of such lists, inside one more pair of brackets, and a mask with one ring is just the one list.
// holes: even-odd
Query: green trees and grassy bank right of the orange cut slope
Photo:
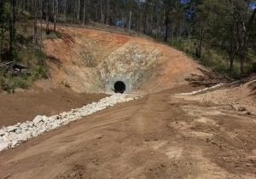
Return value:
[[(250, 18), (253, 17), (253, 9), (249, 6), (251, 2), (190, 0), (183, 5), (188, 16), (179, 16), (177, 12), (182, 6), (176, 6), (176, 13), (171, 12), (173, 19), (170, 20), (172, 24), (169, 26), (167, 43), (215, 72), (232, 78), (250, 74), (254, 72), (253, 63), (256, 61), (256, 21), (253, 22), (252, 30), (248, 28)], [(181, 27), (181, 21), (182, 26), (186, 26), (185, 31), (177, 28)], [(246, 34), (250, 36), (246, 37)], [(154, 38), (160, 39), (159, 36)], [(230, 59), (234, 61), (232, 68)]]

